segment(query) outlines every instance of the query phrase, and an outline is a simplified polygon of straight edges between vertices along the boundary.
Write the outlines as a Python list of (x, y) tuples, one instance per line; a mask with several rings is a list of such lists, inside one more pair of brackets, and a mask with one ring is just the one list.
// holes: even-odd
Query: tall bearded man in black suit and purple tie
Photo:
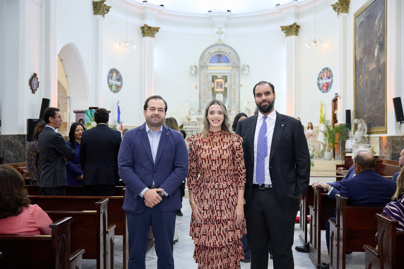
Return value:
[(275, 111), (274, 85), (261, 81), (252, 93), (259, 113), (236, 129), (243, 138), (251, 268), (268, 268), (271, 240), (274, 268), (292, 269), (294, 223), (309, 187), (309, 149), (300, 121)]

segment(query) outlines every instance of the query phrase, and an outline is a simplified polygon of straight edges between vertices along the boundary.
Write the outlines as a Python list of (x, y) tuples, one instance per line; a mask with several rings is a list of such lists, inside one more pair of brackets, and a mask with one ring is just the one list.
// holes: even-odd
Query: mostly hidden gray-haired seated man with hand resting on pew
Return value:
[[(366, 148), (359, 148), (359, 149), (355, 150), (355, 152), (354, 152), (354, 160), (355, 160), (355, 157), (360, 152), (365, 152), (365, 151), (372, 154), (372, 152), (370, 152)], [(312, 187), (313, 187), (314, 191), (317, 191), (318, 186), (323, 187), (324, 190), (328, 191), (327, 192), (328, 198), (335, 200), (335, 194), (339, 194), (343, 180), (351, 178), (353, 176), (355, 176), (354, 165), (352, 165), (349, 168), (348, 173), (346, 174), (346, 176), (343, 179), (334, 181), (334, 182), (330, 182), (330, 183), (315, 182)], [(309, 246), (310, 246), (310, 242), (307, 242), (306, 244), (304, 244), (302, 246), (295, 246), (294, 249), (296, 249), (298, 252), (309, 253), (309, 251), (310, 251)]]

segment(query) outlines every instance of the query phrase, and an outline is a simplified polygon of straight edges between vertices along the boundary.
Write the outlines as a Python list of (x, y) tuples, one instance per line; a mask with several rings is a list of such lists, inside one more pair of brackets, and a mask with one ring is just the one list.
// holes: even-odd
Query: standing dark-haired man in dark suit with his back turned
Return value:
[(97, 109), (97, 126), (83, 132), (80, 143), (80, 164), (83, 169), (83, 195), (114, 196), (119, 183), (118, 152), (121, 133), (108, 127), (110, 115)]

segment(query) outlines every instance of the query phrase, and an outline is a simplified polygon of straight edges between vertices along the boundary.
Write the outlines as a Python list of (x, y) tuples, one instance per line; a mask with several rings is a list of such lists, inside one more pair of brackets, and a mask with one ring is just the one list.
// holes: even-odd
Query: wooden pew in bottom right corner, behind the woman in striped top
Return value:
[[(379, 246), (364, 245), (366, 269), (404, 268), (404, 232), (397, 232), (398, 221), (376, 214)], [(373, 244), (374, 245), (374, 244)]]

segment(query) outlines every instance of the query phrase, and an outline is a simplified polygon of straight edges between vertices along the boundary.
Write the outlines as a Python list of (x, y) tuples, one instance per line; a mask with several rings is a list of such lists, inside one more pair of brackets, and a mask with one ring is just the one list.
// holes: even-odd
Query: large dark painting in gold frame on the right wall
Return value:
[(355, 14), (354, 119), (370, 134), (387, 133), (387, 0), (369, 0)]

